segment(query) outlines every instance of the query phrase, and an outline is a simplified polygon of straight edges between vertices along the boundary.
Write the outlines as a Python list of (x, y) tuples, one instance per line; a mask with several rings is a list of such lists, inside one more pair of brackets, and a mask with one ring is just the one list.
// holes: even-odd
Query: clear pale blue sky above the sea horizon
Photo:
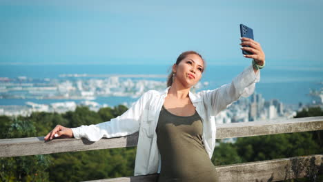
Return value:
[(266, 65), (323, 67), (323, 1), (0, 1), (0, 66), (172, 64), (196, 50), (246, 65), (239, 24)]

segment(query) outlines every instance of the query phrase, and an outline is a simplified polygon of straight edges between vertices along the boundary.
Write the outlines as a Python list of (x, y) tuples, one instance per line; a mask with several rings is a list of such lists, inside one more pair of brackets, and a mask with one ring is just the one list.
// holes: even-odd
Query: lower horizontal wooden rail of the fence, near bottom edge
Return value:
[[(315, 178), (323, 173), (323, 155), (296, 156), (285, 159), (239, 163), (235, 165), (217, 165), (217, 174), (222, 182), (233, 181), (282, 181), (303, 177)], [(100, 179), (90, 182), (152, 182), (157, 174), (129, 176), (115, 179)]]

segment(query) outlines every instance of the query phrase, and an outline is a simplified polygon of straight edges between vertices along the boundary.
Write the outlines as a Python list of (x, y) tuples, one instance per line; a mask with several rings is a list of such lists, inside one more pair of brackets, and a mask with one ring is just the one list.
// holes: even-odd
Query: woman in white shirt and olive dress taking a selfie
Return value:
[(239, 97), (250, 96), (260, 81), (265, 56), (260, 43), (241, 38), (242, 50), (253, 59), (229, 84), (193, 94), (202, 77), (204, 59), (197, 52), (179, 55), (164, 92), (149, 90), (129, 110), (111, 121), (97, 125), (65, 128), (57, 125), (45, 137), (81, 138), (126, 136), (139, 131), (135, 175), (159, 173), (158, 181), (217, 181), (211, 157), (215, 148), (215, 116)]

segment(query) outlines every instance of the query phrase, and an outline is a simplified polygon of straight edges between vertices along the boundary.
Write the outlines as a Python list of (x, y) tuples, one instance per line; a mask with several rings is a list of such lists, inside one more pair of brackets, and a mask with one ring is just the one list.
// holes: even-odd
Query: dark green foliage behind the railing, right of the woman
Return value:
[[(320, 107), (303, 109), (297, 112), (298, 117), (320, 117)], [(271, 159), (282, 159), (292, 156), (322, 154), (323, 131), (272, 134), (238, 138), (235, 143), (221, 143), (215, 147), (212, 161), (215, 165), (228, 165)], [(323, 180), (323, 176), (319, 176)], [(313, 181), (297, 179), (291, 181)]]

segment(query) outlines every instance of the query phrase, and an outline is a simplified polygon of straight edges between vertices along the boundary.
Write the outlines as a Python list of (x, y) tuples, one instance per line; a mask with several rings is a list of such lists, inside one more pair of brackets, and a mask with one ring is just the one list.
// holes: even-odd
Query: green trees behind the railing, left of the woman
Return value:
[[(2, 138), (44, 136), (55, 125), (77, 127), (100, 123), (117, 117), (127, 108), (101, 108), (99, 112), (78, 107), (65, 114), (33, 112), (30, 117), (0, 117)], [(6, 137), (4, 137), (6, 136)], [(136, 148), (65, 152), (48, 155), (19, 156), (1, 159), (1, 181), (84, 181), (131, 176)]]

